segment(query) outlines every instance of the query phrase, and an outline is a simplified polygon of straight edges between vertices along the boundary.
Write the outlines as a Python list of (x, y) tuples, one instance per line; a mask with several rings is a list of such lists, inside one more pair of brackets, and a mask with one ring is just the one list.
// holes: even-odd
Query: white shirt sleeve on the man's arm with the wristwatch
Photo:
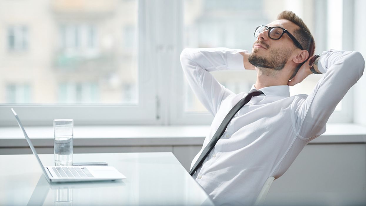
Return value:
[(359, 52), (329, 50), (322, 53), (318, 70), (325, 75), (306, 97), (295, 101), (295, 127), (303, 138), (326, 130), (326, 122), (347, 91), (361, 78), (365, 60)]

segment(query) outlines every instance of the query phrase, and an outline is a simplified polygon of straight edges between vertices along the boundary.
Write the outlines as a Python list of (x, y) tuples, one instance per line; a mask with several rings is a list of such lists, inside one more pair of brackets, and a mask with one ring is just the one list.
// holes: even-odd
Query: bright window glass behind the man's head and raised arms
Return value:
[[(343, 19), (342, 6), (342, 0), (331, 3), (325, 0), (291, 2), (286, 0), (185, 0), (183, 11), (184, 48), (228, 47), (247, 49), (251, 52), (255, 41), (254, 28), (272, 22), (276, 19), (277, 14), (283, 10), (291, 10), (304, 20), (312, 32), (316, 43), (315, 54), (320, 54), (329, 48), (342, 50), (340, 42), (342, 42), (343, 27), (339, 23)], [(326, 8), (328, 12), (324, 12), (320, 8)], [(324, 24), (326, 21), (328, 24)], [(328, 25), (328, 27), (323, 25)], [(328, 38), (324, 33), (337, 35), (329, 35)], [(255, 71), (215, 71), (211, 73), (221, 84), (234, 93), (249, 91), (255, 83), (257, 75)], [(309, 94), (323, 76), (324, 74), (310, 75), (303, 82), (293, 87), (290, 86), (290, 95)], [(182, 108), (184, 108), (184, 112), (178, 115), (178, 122), (185, 123), (196, 120), (197, 123), (208, 123), (212, 120), (208, 117), (210, 115), (195, 97), (185, 79), (183, 82), (185, 97)], [(348, 106), (342, 109), (344, 103)], [(330, 121), (351, 121), (350, 104), (351, 101), (344, 98), (337, 105)]]

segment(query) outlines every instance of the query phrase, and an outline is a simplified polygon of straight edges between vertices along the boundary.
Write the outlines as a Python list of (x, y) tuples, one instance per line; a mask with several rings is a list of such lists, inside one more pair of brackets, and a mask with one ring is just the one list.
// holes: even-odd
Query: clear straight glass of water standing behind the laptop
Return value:
[(55, 166), (72, 166), (74, 120), (53, 120), (53, 148)]

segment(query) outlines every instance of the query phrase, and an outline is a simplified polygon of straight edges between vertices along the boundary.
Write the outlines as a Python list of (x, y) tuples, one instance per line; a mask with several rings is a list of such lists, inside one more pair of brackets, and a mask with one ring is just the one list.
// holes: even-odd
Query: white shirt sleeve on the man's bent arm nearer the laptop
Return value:
[(228, 48), (186, 48), (180, 54), (180, 63), (188, 84), (212, 115), (216, 115), (221, 102), (234, 93), (221, 85), (210, 72), (244, 70), (243, 56), (239, 52), (248, 51)]

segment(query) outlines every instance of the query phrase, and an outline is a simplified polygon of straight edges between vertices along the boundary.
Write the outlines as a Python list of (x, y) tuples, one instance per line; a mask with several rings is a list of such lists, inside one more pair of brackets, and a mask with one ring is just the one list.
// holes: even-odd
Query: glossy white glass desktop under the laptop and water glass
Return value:
[[(39, 156), (54, 164), (53, 154)], [(0, 205), (213, 205), (172, 153), (74, 154), (74, 162), (96, 161), (127, 179), (48, 183), (33, 154), (0, 155)]]

